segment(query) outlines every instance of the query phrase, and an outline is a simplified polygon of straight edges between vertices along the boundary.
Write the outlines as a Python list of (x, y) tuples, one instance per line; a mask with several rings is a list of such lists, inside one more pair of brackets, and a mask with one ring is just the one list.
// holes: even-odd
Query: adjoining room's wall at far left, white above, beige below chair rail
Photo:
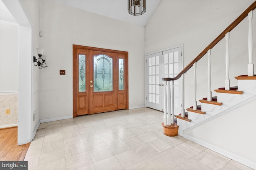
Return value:
[(18, 124), (18, 24), (1, 21), (0, 37), (0, 127), (9, 127)]

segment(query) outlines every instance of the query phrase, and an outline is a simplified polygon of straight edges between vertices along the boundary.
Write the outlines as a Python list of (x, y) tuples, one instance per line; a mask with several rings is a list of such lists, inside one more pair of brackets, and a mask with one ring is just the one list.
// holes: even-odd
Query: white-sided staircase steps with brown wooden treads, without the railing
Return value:
[(201, 105), (196, 109), (192, 107), (187, 108), (188, 112), (184, 117), (176, 115), (176, 123), (179, 126), (178, 133), (183, 136), (186, 129), (190, 129), (200, 122), (209, 119), (210, 117), (218, 116), (227, 110), (235, 109), (243, 102), (250, 101), (256, 96), (256, 75), (247, 76), (242, 75), (235, 77), (238, 80), (238, 86), (230, 87), (230, 90), (219, 88), (214, 90), (217, 96), (212, 97), (211, 101), (207, 98), (199, 100)]

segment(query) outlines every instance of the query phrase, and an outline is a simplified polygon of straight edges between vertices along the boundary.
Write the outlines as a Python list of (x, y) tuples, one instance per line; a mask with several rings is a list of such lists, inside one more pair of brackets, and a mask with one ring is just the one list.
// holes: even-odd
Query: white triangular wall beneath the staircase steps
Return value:
[(254, 98), (237, 109), (185, 132), (184, 136), (255, 169), (256, 114), (251, 111), (255, 105)]

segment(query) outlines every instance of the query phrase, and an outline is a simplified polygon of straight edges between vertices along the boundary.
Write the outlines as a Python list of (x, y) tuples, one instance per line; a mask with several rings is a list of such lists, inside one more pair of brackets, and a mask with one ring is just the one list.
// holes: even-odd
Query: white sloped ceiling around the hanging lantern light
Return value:
[(128, 13), (127, 0), (51, 0), (74, 8), (93, 12), (116, 20), (145, 26), (161, 0), (146, 0), (146, 12), (141, 16)]

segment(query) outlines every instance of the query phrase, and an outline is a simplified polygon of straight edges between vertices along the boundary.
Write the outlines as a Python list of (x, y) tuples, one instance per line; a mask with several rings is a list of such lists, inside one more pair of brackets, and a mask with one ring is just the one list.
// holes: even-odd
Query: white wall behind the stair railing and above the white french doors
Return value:
[[(145, 53), (152, 53), (179, 44), (184, 45), (184, 67), (199, 55), (228, 25), (230, 25), (254, 0), (162, 0), (146, 26)], [(253, 28), (256, 28), (256, 12), (253, 14)], [(256, 34), (254, 34), (256, 39)], [(235, 85), (235, 76), (247, 74), (248, 64), (248, 19), (243, 20), (230, 32), (230, 85)], [(212, 96), (215, 89), (224, 87), (226, 40), (222, 39), (212, 49)], [(256, 48), (254, 48), (254, 53)], [(204, 56), (197, 63), (197, 96), (207, 96), (207, 64)], [(255, 66), (255, 64), (254, 64)], [(255, 68), (254, 68), (255, 70)], [(185, 74), (184, 107), (193, 106), (194, 70)]]

